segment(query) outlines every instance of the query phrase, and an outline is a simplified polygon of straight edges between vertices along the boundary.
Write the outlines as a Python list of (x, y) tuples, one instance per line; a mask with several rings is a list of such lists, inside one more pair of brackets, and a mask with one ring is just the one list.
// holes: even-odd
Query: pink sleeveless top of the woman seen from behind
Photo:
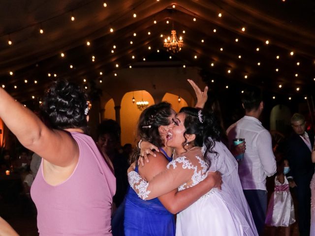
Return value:
[(111, 236), (111, 204), (115, 177), (90, 136), (71, 133), (79, 146), (72, 175), (52, 186), (42, 163), (31, 189), (40, 236)]

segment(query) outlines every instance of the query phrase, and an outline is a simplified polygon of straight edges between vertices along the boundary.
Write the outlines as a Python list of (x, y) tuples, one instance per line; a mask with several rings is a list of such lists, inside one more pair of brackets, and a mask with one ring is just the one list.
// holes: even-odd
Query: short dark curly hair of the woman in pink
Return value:
[(88, 108), (86, 93), (76, 84), (58, 80), (48, 89), (43, 110), (56, 129), (86, 128)]

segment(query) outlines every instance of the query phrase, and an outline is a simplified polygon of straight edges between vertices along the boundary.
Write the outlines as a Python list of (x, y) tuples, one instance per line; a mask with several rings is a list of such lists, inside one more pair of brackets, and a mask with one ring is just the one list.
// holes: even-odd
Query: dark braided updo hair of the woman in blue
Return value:
[[(148, 141), (157, 147), (164, 147), (164, 141), (159, 135), (158, 127), (169, 125), (169, 117), (172, 115), (171, 104), (160, 102), (146, 108), (140, 115), (137, 124), (137, 134), (142, 140)], [(150, 127), (149, 127), (150, 126)], [(131, 155), (131, 161), (137, 160), (140, 150), (137, 148)]]

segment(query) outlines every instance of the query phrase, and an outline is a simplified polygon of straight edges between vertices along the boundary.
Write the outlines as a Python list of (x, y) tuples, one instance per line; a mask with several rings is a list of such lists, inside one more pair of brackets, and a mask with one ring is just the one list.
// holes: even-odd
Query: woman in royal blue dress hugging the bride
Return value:
[[(172, 148), (165, 144), (168, 125), (172, 123), (175, 115), (169, 103), (161, 102), (145, 109), (139, 118), (138, 135), (160, 147), (159, 151), (155, 151), (155, 156), (148, 156), (150, 162), (135, 168), (147, 181), (165, 170), (172, 160)], [(134, 153), (134, 159), (137, 159), (139, 153), (139, 150)], [(173, 214), (189, 207), (220, 182), (220, 174), (212, 173), (194, 187), (180, 192), (173, 190), (150, 201), (141, 200), (133, 189), (129, 188), (125, 199), (125, 235), (174, 236), (176, 226)]]

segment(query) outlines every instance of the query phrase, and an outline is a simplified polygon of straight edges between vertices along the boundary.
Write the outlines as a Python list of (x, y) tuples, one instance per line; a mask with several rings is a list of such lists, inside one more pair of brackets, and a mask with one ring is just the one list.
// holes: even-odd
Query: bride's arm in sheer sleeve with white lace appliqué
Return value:
[(183, 157), (176, 158), (168, 164), (168, 169), (153, 177), (149, 182), (145, 181), (137, 172), (131, 171), (128, 173), (128, 182), (141, 199), (157, 198), (177, 189), (191, 179), (193, 170), (189, 168), (191, 165), (189, 163)]

